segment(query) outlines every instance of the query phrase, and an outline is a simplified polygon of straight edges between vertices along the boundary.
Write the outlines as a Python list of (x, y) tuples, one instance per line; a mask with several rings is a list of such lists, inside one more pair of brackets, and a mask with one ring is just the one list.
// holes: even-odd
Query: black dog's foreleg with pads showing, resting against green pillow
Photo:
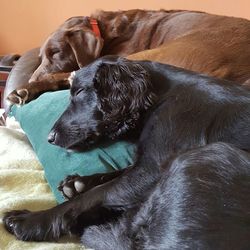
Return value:
[(106, 174), (94, 174), (89, 176), (69, 175), (62, 180), (58, 186), (58, 190), (62, 192), (66, 199), (72, 199), (80, 193), (87, 192), (88, 190), (104, 184), (114, 178), (120, 176), (127, 171), (131, 166)]

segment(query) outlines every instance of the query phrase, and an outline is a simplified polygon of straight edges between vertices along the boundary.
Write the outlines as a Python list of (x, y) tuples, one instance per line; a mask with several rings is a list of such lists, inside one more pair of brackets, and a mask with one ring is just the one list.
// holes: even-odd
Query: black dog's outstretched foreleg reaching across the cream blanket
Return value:
[(54, 208), (39, 212), (8, 212), (3, 219), (4, 225), (20, 240), (55, 240), (78, 226), (77, 221), (82, 214), (98, 211), (95, 208), (119, 210), (138, 204), (157, 177), (158, 170), (147, 170), (138, 164), (123, 175)]

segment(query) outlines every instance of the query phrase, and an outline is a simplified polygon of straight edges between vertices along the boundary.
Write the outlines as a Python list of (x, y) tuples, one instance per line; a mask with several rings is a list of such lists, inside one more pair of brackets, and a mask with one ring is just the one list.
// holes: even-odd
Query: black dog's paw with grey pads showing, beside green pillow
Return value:
[(58, 190), (62, 192), (66, 199), (72, 199), (85, 191), (86, 184), (84, 176), (69, 175), (60, 182)]

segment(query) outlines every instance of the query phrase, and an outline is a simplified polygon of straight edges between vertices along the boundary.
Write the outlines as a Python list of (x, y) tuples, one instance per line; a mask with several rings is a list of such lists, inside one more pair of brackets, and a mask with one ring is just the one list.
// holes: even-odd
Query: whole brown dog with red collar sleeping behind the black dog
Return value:
[(247, 84), (250, 21), (180, 10), (100, 11), (91, 17), (73, 17), (41, 47), (41, 64), (30, 83), (8, 99), (23, 104), (45, 91), (68, 88), (65, 72), (108, 54), (134, 54), (128, 58), (173, 64)]

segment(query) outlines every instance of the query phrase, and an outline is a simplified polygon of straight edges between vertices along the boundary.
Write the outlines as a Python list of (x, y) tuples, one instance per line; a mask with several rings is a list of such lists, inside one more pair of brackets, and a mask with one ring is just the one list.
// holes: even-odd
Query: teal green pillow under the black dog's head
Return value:
[(92, 175), (125, 168), (132, 164), (135, 152), (135, 145), (126, 141), (98, 145), (83, 153), (69, 153), (49, 144), (49, 131), (68, 104), (69, 90), (48, 92), (24, 106), (13, 106), (10, 112), (27, 134), (59, 203), (64, 198), (57, 186), (67, 175)]

